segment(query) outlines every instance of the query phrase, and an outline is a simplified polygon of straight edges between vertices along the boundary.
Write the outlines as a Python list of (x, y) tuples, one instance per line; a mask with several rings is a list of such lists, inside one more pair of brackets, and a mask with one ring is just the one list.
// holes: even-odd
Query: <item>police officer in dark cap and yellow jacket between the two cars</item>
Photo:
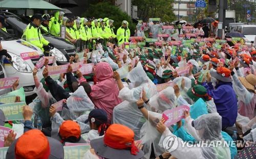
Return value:
[(41, 34), (39, 26), (44, 20), (41, 14), (35, 14), (31, 17), (31, 22), (24, 30), (23, 39), (39, 47), (42, 51), (49, 52), (53, 48), (53, 45), (47, 41)]

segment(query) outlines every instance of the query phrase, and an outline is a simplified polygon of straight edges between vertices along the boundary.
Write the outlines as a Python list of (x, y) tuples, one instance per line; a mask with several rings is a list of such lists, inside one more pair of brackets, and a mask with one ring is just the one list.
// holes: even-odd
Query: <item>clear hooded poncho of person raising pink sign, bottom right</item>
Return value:
[[(200, 116), (198, 119), (194, 120), (194, 127), (191, 125), (192, 119), (187, 117), (185, 119), (188, 126), (188, 133), (190, 135), (198, 134), (197, 140), (208, 141), (209, 146), (193, 146), (188, 147), (187, 144), (184, 145), (184, 141), (180, 138), (177, 138), (178, 147), (177, 149), (170, 151), (170, 154), (172, 154), (176, 158), (231, 158), (228, 144), (225, 143), (225, 141), (222, 139), (221, 135), (221, 116), (218, 113), (212, 113), (212, 114), (206, 114)], [(191, 133), (192, 132), (192, 133)], [(163, 143), (163, 139), (167, 136), (175, 136), (173, 135), (167, 128), (164, 131), (159, 145)], [(193, 137), (195, 137), (193, 135)], [(216, 142), (220, 142), (220, 144), (217, 144)], [(217, 146), (210, 146), (210, 143), (215, 143)], [(207, 144), (207, 145), (208, 145)]]

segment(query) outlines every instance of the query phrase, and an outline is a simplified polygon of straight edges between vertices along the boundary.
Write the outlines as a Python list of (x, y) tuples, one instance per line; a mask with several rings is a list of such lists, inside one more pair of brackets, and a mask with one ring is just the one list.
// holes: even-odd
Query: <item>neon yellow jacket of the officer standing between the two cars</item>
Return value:
[(24, 30), (24, 33), (22, 35), (22, 39), (25, 39), (26, 41), (32, 43), (33, 45), (39, 47), (42, 51), (44, 49), (42, 46), (48, 45), (49, 41), (47, 41), (41, 34), (40, 28), (37, 27), (32, 22), (29, 23)]

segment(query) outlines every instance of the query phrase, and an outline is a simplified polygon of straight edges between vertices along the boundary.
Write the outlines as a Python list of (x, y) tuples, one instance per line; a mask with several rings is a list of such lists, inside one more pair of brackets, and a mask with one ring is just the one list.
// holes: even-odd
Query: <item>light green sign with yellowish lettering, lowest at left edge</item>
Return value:
[(23, 106), (27, 105), (25, 102), (15, 102), (1, 104), (0, 109), (5, 114), (5, 121), (10, 120), (23, 120)]

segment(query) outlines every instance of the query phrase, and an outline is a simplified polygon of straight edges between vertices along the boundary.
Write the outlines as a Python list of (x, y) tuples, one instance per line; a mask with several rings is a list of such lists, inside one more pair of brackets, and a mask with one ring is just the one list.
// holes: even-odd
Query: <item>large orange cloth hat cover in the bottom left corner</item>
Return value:
[(18, 138), (15, 146), (15, 157), (17, 159), (47, 159), (50, 152), (47, 137), (38, 129), (32, 129), (24, 133)]

